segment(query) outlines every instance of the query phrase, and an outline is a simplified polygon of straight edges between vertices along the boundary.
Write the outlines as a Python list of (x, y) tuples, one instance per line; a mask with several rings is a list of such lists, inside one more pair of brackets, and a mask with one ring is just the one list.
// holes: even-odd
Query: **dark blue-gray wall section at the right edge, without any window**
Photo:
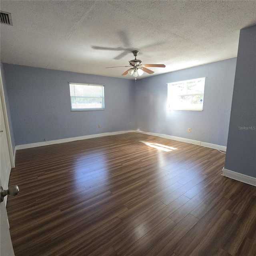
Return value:
[(240, 30), (225, 168), (256, 178), (256, 25)]

